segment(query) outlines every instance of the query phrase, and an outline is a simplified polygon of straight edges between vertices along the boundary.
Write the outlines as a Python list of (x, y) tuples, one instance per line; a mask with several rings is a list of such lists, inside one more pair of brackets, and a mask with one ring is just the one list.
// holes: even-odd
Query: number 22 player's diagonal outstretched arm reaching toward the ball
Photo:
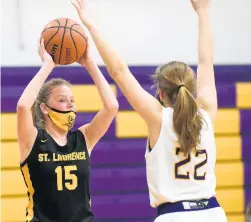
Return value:
[(156, 125), (161, 117), (162, 106), (156, 98), (145, 91), (130, 72), (124, 59), (105, 41), (85, 12), (85, 0), (72, 0), (83, 24), (89, 30), (109, 74), (139, 115), (149, 127)]

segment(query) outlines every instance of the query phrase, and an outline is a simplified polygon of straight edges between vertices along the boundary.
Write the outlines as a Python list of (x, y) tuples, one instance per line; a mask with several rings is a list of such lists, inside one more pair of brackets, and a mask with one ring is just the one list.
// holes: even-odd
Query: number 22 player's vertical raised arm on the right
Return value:
[(209, 22), (210, 0), (191, 0), (191, 2), (199, 20), (198, 103), (214, 121), (218, 105), (213, 67), (213, 38)]

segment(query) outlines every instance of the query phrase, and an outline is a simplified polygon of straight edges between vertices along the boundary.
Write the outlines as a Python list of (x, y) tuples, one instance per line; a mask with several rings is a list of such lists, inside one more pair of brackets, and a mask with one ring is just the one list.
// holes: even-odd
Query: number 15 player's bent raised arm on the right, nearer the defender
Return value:
[(79, 63), (90, 73), (103, 102), (103, 108), (96, 114), (93, 120), (79, 128), (85, 135), (88, 149), (91, 151), (108, 130), (114, 117), (117, 115), (119, 105), (110, 85), (91, 58), (89, 50), (88, 45), (87, 51)]

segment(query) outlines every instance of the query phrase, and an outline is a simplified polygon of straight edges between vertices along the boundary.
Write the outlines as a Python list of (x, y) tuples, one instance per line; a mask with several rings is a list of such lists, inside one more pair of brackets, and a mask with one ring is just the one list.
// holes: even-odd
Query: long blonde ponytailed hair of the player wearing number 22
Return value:
[(187, 64), (173, 61), (159, 66), (153, 78), (174, 109), (173, 126), (180, 148), (185, 154), (190, 153), (200, 143), (203, 123), (195, 99), (195, 73)]

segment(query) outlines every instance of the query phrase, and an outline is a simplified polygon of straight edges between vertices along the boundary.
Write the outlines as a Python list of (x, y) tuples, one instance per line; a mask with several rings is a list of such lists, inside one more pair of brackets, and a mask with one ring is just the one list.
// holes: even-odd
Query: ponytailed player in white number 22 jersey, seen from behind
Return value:
[(215, 197), (217, 96), (210, 0), (191, 0), (199, 20), (197, 79), (183, 62), (162, 65), (154, 75), (157, 99), (140, 86), (125, 61), (103, 39), (86, 13), (85, 0), (72, 3), (111, 77), (147, 124), (147, 183), (150, 204), (158, 212), (155, 222), (227, 221)]

